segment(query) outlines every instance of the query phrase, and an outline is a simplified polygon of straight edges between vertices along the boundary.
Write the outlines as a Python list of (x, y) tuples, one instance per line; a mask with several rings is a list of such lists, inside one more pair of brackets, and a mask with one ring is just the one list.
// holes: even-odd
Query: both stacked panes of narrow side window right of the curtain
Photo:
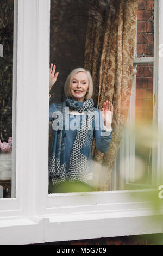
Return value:
[[(139, 1), (136, 43), (136, 57), (154, 56), (154, 0)], [(152, 184), (153, 64), (137, 65), (135, 111), (135, 183), (150, 185)]]

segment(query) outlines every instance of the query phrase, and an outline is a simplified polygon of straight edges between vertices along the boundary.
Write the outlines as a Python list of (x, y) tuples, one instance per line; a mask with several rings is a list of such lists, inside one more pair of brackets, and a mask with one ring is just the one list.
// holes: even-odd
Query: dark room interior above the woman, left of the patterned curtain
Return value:
[(64, 100), (70, 72), (84, 66), (89, 0), (51, 0), (50, 63), (59, 72), (51, 89), (51, 102)]

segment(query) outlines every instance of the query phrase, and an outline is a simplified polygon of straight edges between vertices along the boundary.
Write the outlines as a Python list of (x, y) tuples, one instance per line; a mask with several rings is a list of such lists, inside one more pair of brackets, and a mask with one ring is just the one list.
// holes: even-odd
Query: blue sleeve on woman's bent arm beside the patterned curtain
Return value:
[(108, 131), (105, 128), (101, 111), (98, 111), (98, 117), (99, 118), (95, 118), (95, 130), (94, 130), (96, 148), (99, 151), (101, 151), (101, 153), (105, 153), (109, 149), (109, 145), (112, 139), (112, 128), (111, 128), (111, 131)]

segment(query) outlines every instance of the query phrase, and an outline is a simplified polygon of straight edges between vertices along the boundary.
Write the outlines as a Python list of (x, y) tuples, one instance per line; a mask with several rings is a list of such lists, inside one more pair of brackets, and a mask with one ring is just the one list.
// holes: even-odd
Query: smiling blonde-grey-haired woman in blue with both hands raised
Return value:
[[(51, 64), (49, 91), (58, 74), (55, 73), (55, 65)], [(65, 101), (49, 106), (49, 120), (53, 121), (49, 176), (54, 186), (66, 180), (92, 181), (93, 138), (96, 148), (102, 153), (108, 150), (112, 138), (113, 106), (108, 101), (104, 102), (102, 113), (93, 107), (93, 83), (89, 71), (83, 68), (72, 70), (64, 91)]]

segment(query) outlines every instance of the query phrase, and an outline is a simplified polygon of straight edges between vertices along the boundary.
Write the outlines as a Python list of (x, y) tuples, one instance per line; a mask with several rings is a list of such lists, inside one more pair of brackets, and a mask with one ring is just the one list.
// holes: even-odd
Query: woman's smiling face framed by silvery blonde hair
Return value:
[(70, 92), (73, 100), (83, 102), (88, 88), (89, 80), (86, 73), (78, 72), (76, 75), (72, 77), (70, 84)]

